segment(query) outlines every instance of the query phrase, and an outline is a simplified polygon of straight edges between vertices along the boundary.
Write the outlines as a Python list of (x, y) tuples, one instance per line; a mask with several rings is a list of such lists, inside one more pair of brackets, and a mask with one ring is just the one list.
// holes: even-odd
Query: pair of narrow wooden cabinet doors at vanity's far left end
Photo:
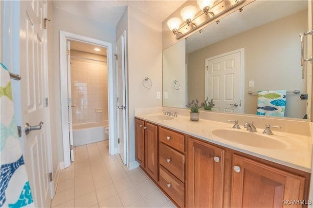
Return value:
[(140, 166), (158, 181), (157, 126), (135, 119), (135, 156)]

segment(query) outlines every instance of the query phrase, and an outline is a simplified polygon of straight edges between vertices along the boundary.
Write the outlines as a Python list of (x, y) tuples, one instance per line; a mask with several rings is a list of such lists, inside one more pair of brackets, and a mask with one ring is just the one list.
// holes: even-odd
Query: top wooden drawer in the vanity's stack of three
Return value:
[(178, 151), (184, 152), (184, 135), (162, 127), (159, 128), (159, 140)]

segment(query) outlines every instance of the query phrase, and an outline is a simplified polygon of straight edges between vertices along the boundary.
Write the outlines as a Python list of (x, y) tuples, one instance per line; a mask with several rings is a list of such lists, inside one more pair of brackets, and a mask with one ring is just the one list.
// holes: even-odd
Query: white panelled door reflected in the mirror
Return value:
[(206, 59), (205, 98), (213, 111), (242, 113), (243, 49)]

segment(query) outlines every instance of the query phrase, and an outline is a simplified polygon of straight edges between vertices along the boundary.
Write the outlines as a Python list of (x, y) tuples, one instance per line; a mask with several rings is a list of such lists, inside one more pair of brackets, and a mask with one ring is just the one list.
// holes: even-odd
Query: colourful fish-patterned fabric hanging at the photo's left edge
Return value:
[(35, 207), (14, 116), (10, 75), (0, 65), (0, 207)]

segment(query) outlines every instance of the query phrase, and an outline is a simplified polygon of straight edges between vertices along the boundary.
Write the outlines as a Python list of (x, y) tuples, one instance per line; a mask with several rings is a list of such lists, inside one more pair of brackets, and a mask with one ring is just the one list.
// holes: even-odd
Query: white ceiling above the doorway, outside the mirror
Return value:
[(54, 8), (116, 26), (127, 6), (163, 22), (186, 0), (55, 0)]

